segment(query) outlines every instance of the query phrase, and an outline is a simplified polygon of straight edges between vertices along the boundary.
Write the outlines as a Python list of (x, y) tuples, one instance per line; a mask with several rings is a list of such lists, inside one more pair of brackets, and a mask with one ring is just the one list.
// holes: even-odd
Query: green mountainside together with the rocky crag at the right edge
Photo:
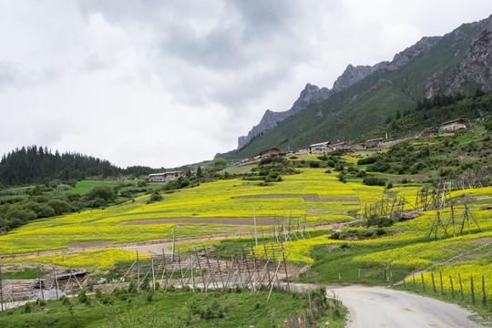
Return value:
[(218, 156), (242, 159), (270, 147), (289, 150), (325, 140), (350, 141), (397, 111), (415, 108), (417, 99), (470, 93), (477, 87), (490, 90), (492, 83), (483, 77), (490, 70), (491, 24), (489, 17), (459, 26), (446, 36), (423, 37), (350, 87), (286, 118), (241, 149)]

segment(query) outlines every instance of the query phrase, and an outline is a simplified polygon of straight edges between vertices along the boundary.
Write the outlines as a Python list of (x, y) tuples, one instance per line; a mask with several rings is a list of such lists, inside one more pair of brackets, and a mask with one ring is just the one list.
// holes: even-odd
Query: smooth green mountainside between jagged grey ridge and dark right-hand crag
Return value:
[[(477, 33), (477, 26), (460, 26), (405, 66), (395, 70), (378, 70), (353, 86), (285, 119), (278, 127), (254, 138), (244, 148), (218, 154), (218, 157), (244, 159), (271, 147), (287, 151), (327, 140), (354, 141), (384, 124), (387, 117), (415, 109), (417, 100), (425, 97), (425, 86), (429, 81), (444, 80), (466, 55)], [(472, 92), (477, 87), (469, 85), (465, 89)]]

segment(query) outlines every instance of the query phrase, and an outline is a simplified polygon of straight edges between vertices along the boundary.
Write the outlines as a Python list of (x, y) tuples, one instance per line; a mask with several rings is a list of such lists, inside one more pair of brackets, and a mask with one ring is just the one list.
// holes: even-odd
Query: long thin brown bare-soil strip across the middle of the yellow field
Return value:
[[(277, 219), (278, 220), (278, 219)], [(253, 218), (175, 218), (175, 219), (151, 219), (151, 220), (131, 220), (121, 222), (118, 225), (148, 225), (148, 224), (166, 224), (166, 223), (210, 223), (210, 224), (231, 224), (253, 226)], [(270, 226), (275, 224), (275, 218), (256, 218), (257, 226)]]

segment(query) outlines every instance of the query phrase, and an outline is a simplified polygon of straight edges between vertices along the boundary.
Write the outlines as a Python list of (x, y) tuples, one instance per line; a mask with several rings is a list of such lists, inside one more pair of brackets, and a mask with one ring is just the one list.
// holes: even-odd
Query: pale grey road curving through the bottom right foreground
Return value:
[(346, 286), (328, 288), (349, 309), (347, 328), (371, 327), (484, 327), (466, 317), (473, 313), (456, 304), (399, 292), (384, 287)]

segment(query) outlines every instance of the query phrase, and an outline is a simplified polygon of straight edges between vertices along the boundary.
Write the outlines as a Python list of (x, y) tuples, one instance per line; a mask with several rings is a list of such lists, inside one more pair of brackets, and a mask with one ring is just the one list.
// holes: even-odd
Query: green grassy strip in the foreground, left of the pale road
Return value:
[[(323, 292), (324, 294), (324, 292)], [(318, 297), (317, 297), (318, 296)], [(320, 300), (315, 292), (312, 300)], [(318, 306), (321, 306), (321, 302)], [(333, 300), (325, 300), (318, 318), (320, 327), (343, 327), (346, 310)], [(41, 309), (41, 311), (39, 310)], [(272, 292), (266, 302), (263, 291), (200, 293), (190, 290), (172, 292), (118, 290), (112, 295), (90, 295), (58, 301), (33, 302), (0, 313), (0, 326), (17, 327), (279, 327), (293, 322), (295, 312), (309, 310), (304, 293)], [(291, 323), (292, 324), (292, 323)]]

